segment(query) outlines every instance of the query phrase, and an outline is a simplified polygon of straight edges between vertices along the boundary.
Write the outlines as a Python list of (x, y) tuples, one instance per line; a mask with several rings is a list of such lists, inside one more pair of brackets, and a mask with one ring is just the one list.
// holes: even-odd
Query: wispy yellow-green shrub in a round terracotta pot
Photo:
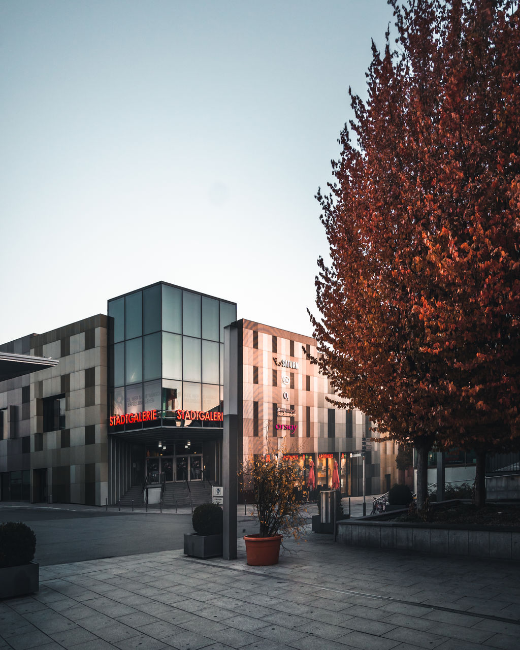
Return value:
[(253, 456), (244, 465), (244, 482), (248, 480), (252, 488), (253, 514), (260, 525), (258, 534), (244, 536), (250, 565), (277, 564), (283, 536), (297, 539), (306, 523), (300, 515), (304, 481), (295, 455), (268, 453)]

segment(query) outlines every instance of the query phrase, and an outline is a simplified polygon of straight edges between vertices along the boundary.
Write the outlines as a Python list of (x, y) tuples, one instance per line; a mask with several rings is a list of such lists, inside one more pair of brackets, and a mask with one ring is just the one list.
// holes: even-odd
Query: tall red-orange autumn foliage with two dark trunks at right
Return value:
[[(338, 395), (427, 456), (519, 443), (520, 15), (516, 2), (409, 0), (394, 8), (368, 99), (318, 191), (315, 361)], [(351, 134), (354, 140), (351, 140)]]

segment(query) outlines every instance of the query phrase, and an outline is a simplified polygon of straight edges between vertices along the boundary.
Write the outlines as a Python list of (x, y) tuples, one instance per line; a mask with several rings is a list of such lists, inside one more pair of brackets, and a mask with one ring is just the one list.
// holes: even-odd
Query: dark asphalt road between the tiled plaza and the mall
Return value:
[[(34, 560), (42, 566), (182, 549), (184, 534), (193, 532), (190, 514), (74, 510), (73, 506), (0, 506), (2, 521), (23, 521), (34, 530)], [(253, 521), (239, 518), (239, 537), (257, 531)]]

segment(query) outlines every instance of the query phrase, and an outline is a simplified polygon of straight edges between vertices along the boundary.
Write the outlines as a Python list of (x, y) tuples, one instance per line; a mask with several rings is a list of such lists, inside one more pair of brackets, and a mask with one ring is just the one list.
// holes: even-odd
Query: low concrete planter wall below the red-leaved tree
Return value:
[(349, 546), (520, 562), (520, 528), (350, 519), (337, 523), (337, 540)]

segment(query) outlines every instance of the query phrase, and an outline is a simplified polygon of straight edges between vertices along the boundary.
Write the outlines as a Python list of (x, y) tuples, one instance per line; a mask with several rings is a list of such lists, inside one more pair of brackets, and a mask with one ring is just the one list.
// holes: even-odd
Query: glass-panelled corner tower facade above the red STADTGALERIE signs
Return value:
[(237, 305), (157, 283), (109, 300), (108, 312), (110, 415), (157, 410), (179, 426), (172, 411), (221, 408), (224, 327)]

